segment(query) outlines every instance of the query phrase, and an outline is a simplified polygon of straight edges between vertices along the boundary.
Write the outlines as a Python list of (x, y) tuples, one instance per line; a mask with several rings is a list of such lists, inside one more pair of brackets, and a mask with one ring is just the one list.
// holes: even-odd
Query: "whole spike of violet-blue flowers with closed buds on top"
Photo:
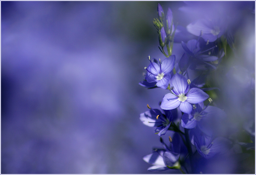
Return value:
[[(200, 167), (195, 167), (198, 157), (206, 161), (235, 152), (234, 141), (216, 132), (216, 126), (225, 120), (226, 112), (213, 103), (212, 99), (216, 98), (213, 90), (218, 88), (211, 87), (206, 81), (226, 57), (227, 50), (232, 50), (232, 37), (227, 36), (233, 31), (228, 30), (225, 18), (211, 17), (191, 22), (186, 31), (177, 30), (179, 33), (176, 35), (176, 28), (180, 27), (174, 26), (171, 9), (168, 8), (165, 15), (158, 4), (159, 19), (154, 19), (153, 23), (158, 30), (159, 49), (166, 58), (162, 61), (148, 56), (150, 63), (145, 67), (145, 80), (139, 83), (149, 89), (162, 88), (166, 91), (160, 102), (162, 112), (147, 105), (149, 110), (139, 116), (143, 124), (155, 127), (154, 133), (160, 136), (163, 145), (163, 148), (154, 148), (143, 158), (153, 165), (149, 171), (176, 169), (183, 173), (204, 173)], [(183, 37), (179, 38), (182, 33)], [(180, 58), (172, 55), (174, 42), (183, 48)], [(212, 97), (212, 94), (215, 95)], [(166, 135), (169, 145), (162, 138)], [(240, 145), (247, 148), (250, 145), (255, 149), (249, 143)]]

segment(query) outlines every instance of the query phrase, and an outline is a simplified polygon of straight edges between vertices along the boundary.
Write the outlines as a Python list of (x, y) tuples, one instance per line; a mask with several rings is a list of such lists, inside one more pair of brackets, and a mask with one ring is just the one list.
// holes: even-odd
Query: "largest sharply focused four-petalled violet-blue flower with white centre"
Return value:
[(189, 84), (183, 75), (173, 75), (170, 81), (172, 94), (165, 94), (160, 107), (165, 110), (179, 107), (182, 112), (190, 114), (191, 104), (197, 104), (209, 98), (209, 95), (199, 88), (189, 89)]

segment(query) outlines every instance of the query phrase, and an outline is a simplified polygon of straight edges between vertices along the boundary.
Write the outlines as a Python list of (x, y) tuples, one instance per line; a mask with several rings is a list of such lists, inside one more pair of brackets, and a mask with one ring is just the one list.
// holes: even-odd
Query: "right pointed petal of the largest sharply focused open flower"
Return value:
[(197, 104), (205, 101), (207, 98), (209, 98), (209, 95), (199, 88), (192, 88), (188, 91), (186, 97), (187, 102)]

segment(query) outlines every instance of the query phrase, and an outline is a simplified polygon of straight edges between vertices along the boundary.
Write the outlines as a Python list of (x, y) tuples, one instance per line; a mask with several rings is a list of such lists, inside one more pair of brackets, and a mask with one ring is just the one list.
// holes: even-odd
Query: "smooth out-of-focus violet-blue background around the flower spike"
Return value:
[[(138, 85), (147, 56), (164, 58), (152, 22), (158, 3), (172, 9), (179, 25), (188, 24), (181, 1), (1, 1), (1, 173), (179, 173), (149, 172), (142, 160), (161, 148), (139, 114), (147, 104), (158, 108), (166, 91)], [(236, 81), (221, 76), (217, 82), (231, 81), (220, 87), (230, 93), (222, 105), (247, 99), (247, 117), (240, 119), (240, 111), (239, 122), (255, 120), (252, 95), (232, 100), (247, 92), (243, 88), (255, 91), (254, 17), (255, 9), (242, 18), (240, 55), (219, 73)], [(177, 59), (181, 50), (174, 45)], [(228, 173), (236, 172), (236, 163)]]

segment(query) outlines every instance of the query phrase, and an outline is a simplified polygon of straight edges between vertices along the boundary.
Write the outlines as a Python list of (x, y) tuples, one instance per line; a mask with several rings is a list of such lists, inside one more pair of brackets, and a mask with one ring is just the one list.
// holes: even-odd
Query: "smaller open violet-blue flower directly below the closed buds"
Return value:
[(159, 66), (157, 63), (152, 62), (148, 57), (150, 64), (146, 74), (146, 81), (148, 83), (157, 82), (156, 85), (160, 88), (166, 89), (171, 80), (171, 71), (174, 67), (175, 55), (166, 58), (163, 62), (159, 59)]

